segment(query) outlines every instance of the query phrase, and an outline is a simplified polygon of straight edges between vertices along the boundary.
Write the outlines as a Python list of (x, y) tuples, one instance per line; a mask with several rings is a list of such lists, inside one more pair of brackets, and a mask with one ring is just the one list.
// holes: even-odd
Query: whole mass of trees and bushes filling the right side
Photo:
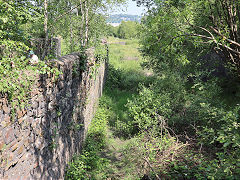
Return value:
[(239, 39), (231, 25), (239, 22), (239, 2), (138, 3), (149, 8), (141, 30), (143, 65), (154, 69), (157, 81), (140, 87), (129, 101), (133, 125), (159, 132), (164, 123), (172, 136), (198, 149), (204, 157), (200, 168), (178, 172), (188, 174), (185, 178), (238, 179), (239, 77), (234, 62), (239, 61)]

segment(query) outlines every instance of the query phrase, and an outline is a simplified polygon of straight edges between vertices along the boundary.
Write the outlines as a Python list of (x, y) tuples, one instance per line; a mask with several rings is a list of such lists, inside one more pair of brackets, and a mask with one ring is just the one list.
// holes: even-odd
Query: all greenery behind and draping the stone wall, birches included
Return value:
[[(63, 54), (98, 47), (107, 27), (98, 11), (121, 2), (0, 0), (0, 95), (7, 97), (12, 115), (28, 104), (36, 74), (51, 74), (55, 80), (60, 74), (49, 62), (55, 58), (49, 40), (61, 36)], [(39, 61), (32, 64), (30, 51), (36, 49)]]

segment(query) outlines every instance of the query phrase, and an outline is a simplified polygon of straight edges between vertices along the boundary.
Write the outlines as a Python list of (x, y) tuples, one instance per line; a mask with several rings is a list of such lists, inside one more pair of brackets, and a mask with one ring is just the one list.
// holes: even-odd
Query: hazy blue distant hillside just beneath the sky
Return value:
[(129, 14), (114, 14), (107, 18), (107, 23), (121, 23), (122, 21), (141, 21), (142, 16)]

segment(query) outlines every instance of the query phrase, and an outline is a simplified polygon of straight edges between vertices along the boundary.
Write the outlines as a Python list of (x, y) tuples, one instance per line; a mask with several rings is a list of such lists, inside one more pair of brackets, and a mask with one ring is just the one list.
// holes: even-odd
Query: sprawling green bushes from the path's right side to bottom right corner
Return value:
[(180, 79), (177, 74), (167, 74), (150, 87), (140, 86), (139, 94), (127, 104), (132, 125), (139, 132), (160, 133), (164, 124), (174, 131), (172, 135), (187, 134), (211, 151), (202, 165), (190, 169), (184, 168), (187, 155), (183, 154), (185, 160), (174, 162), (177, 169), (168, 169), (171, 178), (176, 174), (178, 178), (196, 178), (202, 171), (205, 175), (199, 178), (240, 177), (239, 105), (229, 110), (219, 103), (221, 88), (216, 81), (195, 81), (189, 88)]

